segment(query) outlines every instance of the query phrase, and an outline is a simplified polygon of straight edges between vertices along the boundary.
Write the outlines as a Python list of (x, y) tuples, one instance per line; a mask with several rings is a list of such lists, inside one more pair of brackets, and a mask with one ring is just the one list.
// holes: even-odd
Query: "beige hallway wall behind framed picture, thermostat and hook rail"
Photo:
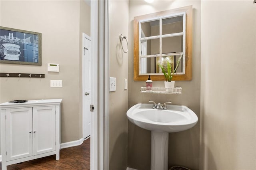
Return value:
[[(1, 77), (0, 103), (14, 99), (63, 99), (61, 142), (79, 140), (82, 137), (80, 2), (8, 0), (1, 1), (0, 10), (1, 26), (42, 33), (42, 66), (1, 63), (0, 71), (45, 74), (40, 79)], [(60, 72), (48, 72), (47, 63), (60, 64)], [(50, 88), (50, 80), (63, 80), (63, 87)]]

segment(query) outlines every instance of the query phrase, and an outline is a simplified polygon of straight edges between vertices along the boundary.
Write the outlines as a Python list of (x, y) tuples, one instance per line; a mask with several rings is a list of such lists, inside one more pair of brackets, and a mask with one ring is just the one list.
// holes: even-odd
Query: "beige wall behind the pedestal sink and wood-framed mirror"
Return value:
[[(142, 94), (140, 87), (145, 81), (133, 80), (133, 18), (148, 13), (170, 10), (193, 5), (193, 59), (192, 81), (176, 81), (182, 87), (181, 95)], [(129, 1), (129, 94), (128, 107), (136, 103), (148, 103), (148, 100), (164, 103), (172, 101), (174, 105), (186, 105), (200, 118), (200, 37), (201, 2), (200, 1), (154, 1), (148, 4), (143, 0)], [(153, 87), (164, 87), (163, 81), (154, 81)], [(190, 130), (169, 134), (169, 167), (183, 165), (199, 169), (199, 128), (200, 123)], [(128, 167), (138, 170), (150, 169), (150, 131), (128, 122)]]

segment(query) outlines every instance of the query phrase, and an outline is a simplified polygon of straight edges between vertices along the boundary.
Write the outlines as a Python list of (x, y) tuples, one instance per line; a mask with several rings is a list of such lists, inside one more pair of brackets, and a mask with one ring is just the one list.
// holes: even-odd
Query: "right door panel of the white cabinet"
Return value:
[(56, 150), (56, 107), (33, 107), (34, 155)]

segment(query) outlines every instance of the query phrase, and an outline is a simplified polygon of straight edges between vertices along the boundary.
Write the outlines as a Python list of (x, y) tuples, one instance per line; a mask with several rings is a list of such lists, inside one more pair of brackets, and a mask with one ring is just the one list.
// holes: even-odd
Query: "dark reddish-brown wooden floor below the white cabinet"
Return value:
[(80, 146), (61, 149), (60, 160), (55, 159), (55, 155), (47, 156), (9, 165), (7, 170), (90, 170), (90, 138)]

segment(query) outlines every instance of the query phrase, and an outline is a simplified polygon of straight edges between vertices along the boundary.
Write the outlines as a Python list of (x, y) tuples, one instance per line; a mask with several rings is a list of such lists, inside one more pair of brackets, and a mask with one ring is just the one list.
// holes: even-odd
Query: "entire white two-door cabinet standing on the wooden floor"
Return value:
[(10, 164), (54, 154), (60, 159), (61, 101), (0, 104), (2, 170)]

